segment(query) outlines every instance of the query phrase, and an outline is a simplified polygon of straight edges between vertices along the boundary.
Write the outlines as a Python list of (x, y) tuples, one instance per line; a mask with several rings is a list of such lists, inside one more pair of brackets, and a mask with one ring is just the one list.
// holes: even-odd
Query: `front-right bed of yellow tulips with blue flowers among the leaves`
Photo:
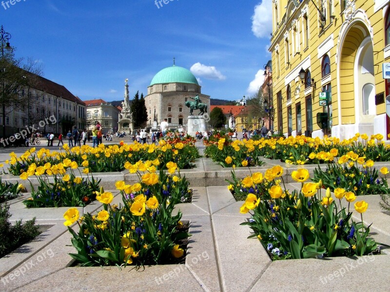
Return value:
[[(292, 172), (292, 179), (301, 183), (300, 191), (285, 190), (283, 168), (274, 166), (264, 176), (254, 173), (243, 180), (233, 182), (229, 189), (233, 195), (245, 202), (241, 213), (252, 215), (242, 225), (248, 225), (273, 260), (287, 258), (310, 258), (329, 256), (363, 256), (376, 250), (375, 241), (368, 236), (370, 226), (364, 226), (363, 213), (368, 204), (354, 203), (354, 212), (361, 214), (361, 221), (351, 219), (351, 202), (356, 200), (353, 192), (335, 189), (335, 196), (341, 205), (348, 201), (348, 208), (342, 208), (331, 198), (320, 192), (322, 182), (307, 182), (308, 170)], [(249, 237), (249, 238), (250, 238)]]

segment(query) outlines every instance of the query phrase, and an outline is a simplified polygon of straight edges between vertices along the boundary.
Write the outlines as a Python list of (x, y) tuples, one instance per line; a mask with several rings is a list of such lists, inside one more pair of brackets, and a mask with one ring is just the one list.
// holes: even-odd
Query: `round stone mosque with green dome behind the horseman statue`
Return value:
[[(176, 66), (174, 60), (174, 65), (158, 72), (148, 87), (148, 95), (145, 96), (148, 128), (160, 128), (165, 118), (168, 119), (171, 130), (181, 126), (186, 128), (190, 109), (185, 102), (193, 101), (191, 97), (194, 98), (196, 94), (210, 109), (210, 95), (202, 94), (194, 74)], [(198, 110), (195, 110), (194, 115), (197, 114)]]

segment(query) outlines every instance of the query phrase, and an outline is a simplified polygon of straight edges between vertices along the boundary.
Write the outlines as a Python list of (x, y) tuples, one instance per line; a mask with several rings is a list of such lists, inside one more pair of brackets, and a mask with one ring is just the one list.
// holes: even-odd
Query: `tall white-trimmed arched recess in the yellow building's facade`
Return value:
[(339, 63), (338, 136), (374, 134), (375, 78), (373, 46), (365, 23), (352, 21), (344, 30)]

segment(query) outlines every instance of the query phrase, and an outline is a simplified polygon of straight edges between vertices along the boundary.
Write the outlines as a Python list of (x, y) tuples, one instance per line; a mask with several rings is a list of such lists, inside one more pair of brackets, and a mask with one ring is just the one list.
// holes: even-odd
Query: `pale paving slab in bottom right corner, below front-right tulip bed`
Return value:
[(251, 291), (389, 291), (389, 268), (387, 255), (278, 260)]

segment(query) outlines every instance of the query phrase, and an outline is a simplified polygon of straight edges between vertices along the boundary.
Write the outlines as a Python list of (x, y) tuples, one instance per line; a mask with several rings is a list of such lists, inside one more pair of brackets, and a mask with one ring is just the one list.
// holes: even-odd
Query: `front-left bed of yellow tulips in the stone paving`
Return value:
[[(171, 170), (174, 165), (171, 165)], [(185, 238), (191, 236), (173, 216), (177, 203), (188, 201), (192, 190), (180, 174), (159, 175), (137, 171), (139, 183), (117, 182), (122, 204), (113, 204), (112, 193), (97, 193), (103, 209), (97, 215), (80, 218), (76, 208), (64, 214), (65, 225), (77, 222), (78, 233), (68, 227), (77, 253), (70, 254), (80, 266), (138, 267), (151, 264), (177, 263), (185, 256)]]

